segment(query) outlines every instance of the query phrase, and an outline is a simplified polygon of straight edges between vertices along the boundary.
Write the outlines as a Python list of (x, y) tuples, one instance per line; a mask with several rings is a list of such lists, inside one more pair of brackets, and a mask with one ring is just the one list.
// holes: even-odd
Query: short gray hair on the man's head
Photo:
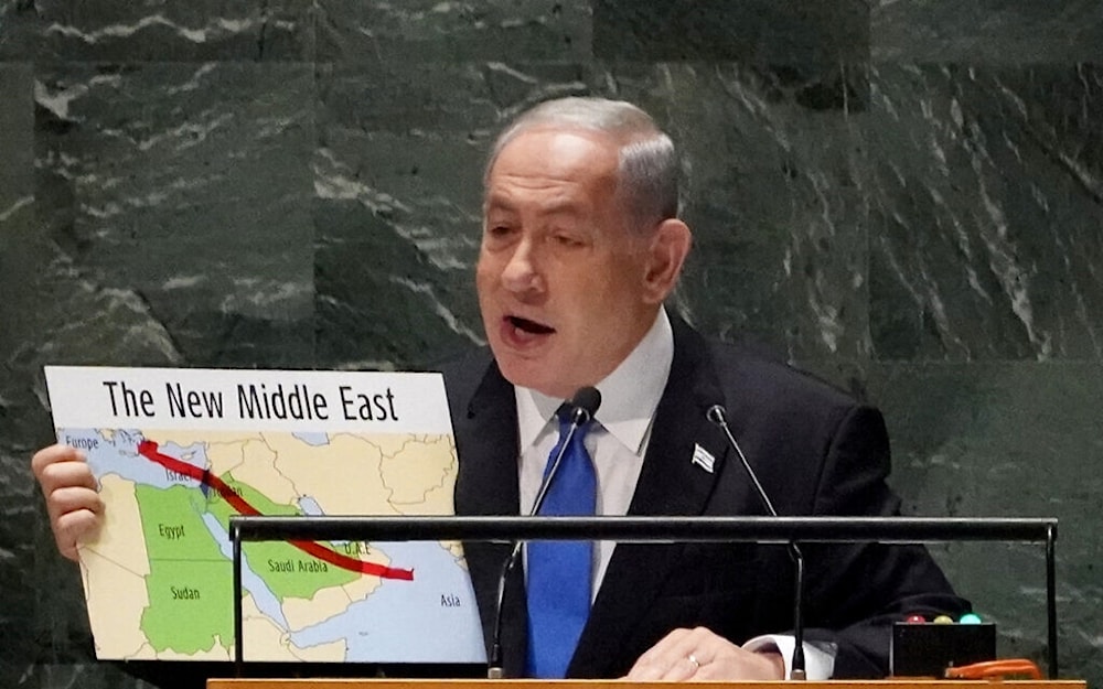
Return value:
[(678, 161), (674, 143), (650, 115), (624, 100), (558, 98), (522, 112), (494, 140), (483, 185), (502, 149), (517, 134), (539, 127), (583, 129), (609, 134), (620, 143), (618, 196), (629, 219), (651, 228), (678, 214)]

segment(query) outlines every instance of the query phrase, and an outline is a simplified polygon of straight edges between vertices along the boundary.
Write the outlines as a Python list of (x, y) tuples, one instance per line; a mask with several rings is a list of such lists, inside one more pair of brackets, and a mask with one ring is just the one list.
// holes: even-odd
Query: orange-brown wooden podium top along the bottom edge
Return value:
[[(539, 689), (548, 685), (557, 689), (671, 689), (677, 682), (642, 682), (614, 679), (210, 679), (207, 689)], [(709, 689), (780, 689), (785, 685), (801, 689), (1086, 689), (1083, 680), (1031, 679), (878, 679), (829, 681), (707, 681), (685, 682), (707, 685)]]

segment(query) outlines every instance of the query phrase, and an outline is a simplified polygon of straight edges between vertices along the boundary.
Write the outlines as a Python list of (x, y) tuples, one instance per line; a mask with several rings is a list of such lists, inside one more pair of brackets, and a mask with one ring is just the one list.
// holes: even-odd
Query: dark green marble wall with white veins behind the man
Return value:
[[(1103, 681), (1099, 0), (0, 0), (0, 686), (146, 686), (45, 527), (42, 365), (481, 342), (482, 157), (566, 94), (674, 134), (676, 306), (881, 406), (910, 513), (1061, 518), (1062, 670)], [(1040, 550), (938, 556), (1042, 657)]]

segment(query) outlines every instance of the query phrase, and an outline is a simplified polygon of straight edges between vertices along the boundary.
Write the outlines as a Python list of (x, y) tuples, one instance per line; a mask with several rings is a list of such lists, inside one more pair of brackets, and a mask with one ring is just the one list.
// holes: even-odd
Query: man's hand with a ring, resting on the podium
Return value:
[(773, 680), (784, 679), (780, 653), (759, 653), (736, 646), (705, 627), (674, 629), (640, 656), (625, 679), (653, 680)]

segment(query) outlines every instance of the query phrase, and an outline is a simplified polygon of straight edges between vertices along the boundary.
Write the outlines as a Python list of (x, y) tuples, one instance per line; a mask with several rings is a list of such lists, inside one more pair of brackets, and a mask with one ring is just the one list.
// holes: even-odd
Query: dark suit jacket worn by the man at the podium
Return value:
[[(722, 433), (706, 419), (715, 403), (727, 408), (779, 514), (898, 514), (899, 499), (885, 483), (888, 438), (877, 410), (672, 321), (670, 380), (629, 514), (765, 514), (738, 457), (729, 456)], [(520, 514), (513, 386), (486, 352), (445, 367), (445, 377), (460, 466), (457, 513)], [(690, 462), (695, 443), (716, 457), (714, 473)], [(490, 639), (508, 547), (464, 548)], [(892, 621), (967, 610), (923, 548), (806, 546), (804, 557), (806, 638), (837, 644), (835, 677), (884, 676)], [(705, 626), (735, 643), (785, 633), (792, 628), (792, 571), (780, 546), (619, 545), (568, 676), (622, 676), (677, 627)], [(506, 675), (516, 677), (526, 644), (520, 575), (507, 592), (503, 655)]]

